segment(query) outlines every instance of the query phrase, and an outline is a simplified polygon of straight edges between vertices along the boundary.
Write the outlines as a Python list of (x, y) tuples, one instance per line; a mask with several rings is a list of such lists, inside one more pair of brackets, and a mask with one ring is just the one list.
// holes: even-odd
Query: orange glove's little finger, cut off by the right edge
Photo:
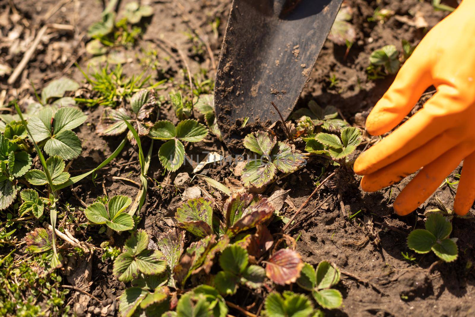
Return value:
[(460, 182), (455, 195), (454, 212), (465, 215), (472, 207), (475, 200), (475, 152), (464, 160)]

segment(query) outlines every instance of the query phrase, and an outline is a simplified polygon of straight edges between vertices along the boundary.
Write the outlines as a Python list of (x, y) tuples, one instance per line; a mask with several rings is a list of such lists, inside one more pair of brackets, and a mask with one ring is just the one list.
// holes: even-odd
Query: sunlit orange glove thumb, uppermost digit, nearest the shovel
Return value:
[(421, 44), (401, 67), (388, 91), (368, 115), (366, 131), (369, 134), (384, 134), (399, 125), (416, 105), (421, 94), (432, 85), (428, 57), (423, 53)]

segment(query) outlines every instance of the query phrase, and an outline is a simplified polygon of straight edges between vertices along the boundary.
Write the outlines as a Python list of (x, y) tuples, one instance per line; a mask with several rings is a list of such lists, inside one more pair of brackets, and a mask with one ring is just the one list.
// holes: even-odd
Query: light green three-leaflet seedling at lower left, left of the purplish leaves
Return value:
[(150, 237), (147, 232), (138, 230), (125, 241), (122, 253), (114, 260), (113, 274), (123, 282), (130, 282), (139, 273), (160, 274), (167, 265), (159, 250), (149, 250)]

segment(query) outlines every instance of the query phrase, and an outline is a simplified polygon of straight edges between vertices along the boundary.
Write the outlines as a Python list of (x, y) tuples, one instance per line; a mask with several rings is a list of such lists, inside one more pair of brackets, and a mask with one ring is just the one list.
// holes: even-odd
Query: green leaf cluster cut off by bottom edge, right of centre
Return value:
[(285, 290), (282, 295), (272, 292), (266, 297), (264, 302), (264, 311), (266, 316), (285, 316), (285, 317), (314, 317), (323, 316), (322, 312), (314, 309), (310, 299), (303, 294)]

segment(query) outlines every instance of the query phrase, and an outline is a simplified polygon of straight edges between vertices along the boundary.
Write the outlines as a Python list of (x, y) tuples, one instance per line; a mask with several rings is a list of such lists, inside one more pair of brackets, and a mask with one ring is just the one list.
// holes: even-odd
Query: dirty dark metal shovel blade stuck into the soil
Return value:
[[(214, 90), (225, 141), (233, 125), (290, 115), (342, 0), (233, 0)], [(238, 121), (237, 121), (238, 120)]]

